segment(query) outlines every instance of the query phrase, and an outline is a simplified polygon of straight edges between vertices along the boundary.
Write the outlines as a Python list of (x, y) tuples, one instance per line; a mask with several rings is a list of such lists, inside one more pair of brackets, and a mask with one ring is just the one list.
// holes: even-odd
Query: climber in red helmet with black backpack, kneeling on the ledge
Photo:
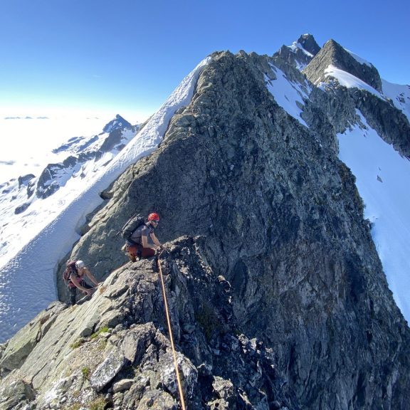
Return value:
[(148, 221), (138, 226), (127, 241), (127, 253), (135, 262), (140, 258), (151, 258), (155, 251), (164, 248), (155, 236), (154, 229), (159, 224), (159, 215), (153, 212), (148, 215)]

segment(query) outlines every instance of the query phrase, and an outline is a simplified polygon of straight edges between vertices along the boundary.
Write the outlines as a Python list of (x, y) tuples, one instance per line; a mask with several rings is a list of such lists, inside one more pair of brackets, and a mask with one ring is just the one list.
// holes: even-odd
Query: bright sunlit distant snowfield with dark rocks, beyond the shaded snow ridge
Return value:
[[(121, 147), (132, 140), (135, 132), (132, 129), (122, 130), (119, 143), (107, 152), (100, 150), (102, 144), (107, 142), (107, 133), (89, 138), (72, 138), (68, 144), (55, 149), (56, 154), (43, 154), (43, 172), (39, 170), (37, 177), (31, 174), (26, 182), (19, 177), (0, 185), (0, 269), (44, 226), (56, 218), (78, 189), (93, 181), (98, 170), (106, 167)], [(71, 164), (65, 162), (67, 158), (73, 160)], [(41, 159), (38, 159), (38, 162), (41, 162)], [(46, 159), (52, 161), (47, 167)], [(18, 169), (27, 171), (26, 167)], [(43, 177), (43, 183), (38, 185), (41, 175), (44, 174), (48, 174), (49, 179)], [(28, 187), (31, 189), (31, 195), (28, 195)], [(46, 189), (51, 189), (54, 193), (46, 193)], [(16, 209), (22, 207), (25, 211), (16, 213)]]

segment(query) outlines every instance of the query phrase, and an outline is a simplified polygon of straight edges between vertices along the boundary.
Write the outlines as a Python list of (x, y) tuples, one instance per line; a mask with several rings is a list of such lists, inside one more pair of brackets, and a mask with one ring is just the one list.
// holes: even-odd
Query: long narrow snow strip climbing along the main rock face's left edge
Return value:
[(100, 191), (157, 148), (174, 113), (189, 104), (196, 79), (209, 61), (210, 58), (201, 61), (184, 78), (132, 142), (105, 169), (97, 172), (93, 182), (69, 181), (69, 196), (58, 192), (52, 196), (60, 213), (0, 270), (0, 342), (56, 300), (54, 280), (58, 260), (78, 240), (77, 231), (85, 223), (85, 216), (101, 203)]

